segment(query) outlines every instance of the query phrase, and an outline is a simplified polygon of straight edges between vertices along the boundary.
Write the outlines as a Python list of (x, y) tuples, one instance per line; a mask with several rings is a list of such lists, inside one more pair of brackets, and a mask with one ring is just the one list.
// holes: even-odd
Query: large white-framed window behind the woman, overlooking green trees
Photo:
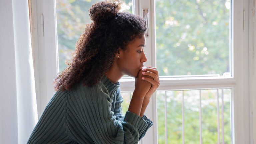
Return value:
[[(96, 1), (79, 2), (32, 2), (32, 12), (33, 6), (37, 8), (33, 41), (39, 116), (54, 93), (57, 72), (65, 68), (65, 60), (70, 60), (75, 41), (89, 22), (85, 13)], [(244, 24), (248, 2), (122, 2), (123, 10), (141, 17), (147, 14), (143, 10), (149, 11), (145, 65), (156, 66), (161, 76), (145, 112), (154, 125), (141, 143), (249, 143), (249, 28)], [(120, 83), (124, 113), (134, 80), (123, 78)]]

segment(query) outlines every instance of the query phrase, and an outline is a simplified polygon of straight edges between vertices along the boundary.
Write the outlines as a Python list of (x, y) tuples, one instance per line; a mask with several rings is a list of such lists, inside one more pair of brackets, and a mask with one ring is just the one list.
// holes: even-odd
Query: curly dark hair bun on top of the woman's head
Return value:
[(120, 2), (103, 1), (91, 6), (90, 17), (95, 23), (113, 18), (120, 10)]

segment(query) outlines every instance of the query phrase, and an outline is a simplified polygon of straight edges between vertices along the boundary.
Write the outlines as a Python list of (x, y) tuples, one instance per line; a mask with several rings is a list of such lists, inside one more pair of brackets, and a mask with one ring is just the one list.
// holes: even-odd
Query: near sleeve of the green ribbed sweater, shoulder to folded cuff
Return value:
[[(72, 94), (70, 103), (73, 104), (68, 104), (70, 108), (67, 108), (70, 111), (67, 128), (70, 137), (81, 144), (88, 139), (96, 144), (137, 144), (148, 127), (144, 119), (129, 111), (118, 121), (111, 111), (111, 98), (98, 85), (77, 89)], [(71, 113), (76, 113), (75, 117), (69, 117)], [(89, 138), (83, 137), (84, 133)]]

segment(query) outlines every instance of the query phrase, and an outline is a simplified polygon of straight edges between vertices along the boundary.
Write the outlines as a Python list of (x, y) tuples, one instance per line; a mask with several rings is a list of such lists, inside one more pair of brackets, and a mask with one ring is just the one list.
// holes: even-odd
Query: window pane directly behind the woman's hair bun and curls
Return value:
[[(102, 0), (56, 0), (59, 71), (63, 71), (75, 51), (75, 43), (86, 24), (91, 23), (90, 7)], [(132, 0), (121, 0), (121, 10), (132, 13)]]

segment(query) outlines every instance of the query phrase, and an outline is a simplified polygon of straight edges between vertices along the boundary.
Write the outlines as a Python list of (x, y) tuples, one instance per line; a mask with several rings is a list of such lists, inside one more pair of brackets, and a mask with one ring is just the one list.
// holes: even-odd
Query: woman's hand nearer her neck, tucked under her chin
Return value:
[(135, 78), (135, 90), (134, 92), (138, 94), (139, 96), (143, 97), (147, 94), (147, 92), (150, 90), (152, 84), (148, 81), (142, 80), (142, 77), (148, 77), (151, 78), (150, 76), (143, 75), (142, 72), (143, 70), (140, 70), (138, 73), (138, 76)]

